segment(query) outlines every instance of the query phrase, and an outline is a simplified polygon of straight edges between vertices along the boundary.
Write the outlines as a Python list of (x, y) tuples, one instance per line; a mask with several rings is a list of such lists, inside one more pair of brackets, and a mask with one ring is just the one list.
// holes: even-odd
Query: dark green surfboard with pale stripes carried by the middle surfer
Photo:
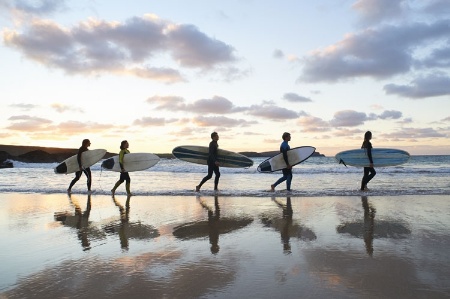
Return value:
[[(177, 146), (172, 150), (172, 154), (183, 161), (207, 165), (208, 164), (208, 152), (207, 146), (195, 146), (195, 145), (183, 145)], [(253, 161), (248, 157), (223, 149), (218, 149), (217, 160), (221, 167), (250, 167), (253, 165)]]

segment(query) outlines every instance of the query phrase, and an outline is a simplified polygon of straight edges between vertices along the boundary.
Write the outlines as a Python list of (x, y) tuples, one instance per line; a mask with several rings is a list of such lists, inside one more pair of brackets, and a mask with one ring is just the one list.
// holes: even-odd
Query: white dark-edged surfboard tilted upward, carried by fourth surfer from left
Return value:
[[(309, 157), (311, 157), (312, 154), (316, 151), (315, 147), (312, 146), (300, 146), (291, 148), (288, 150), (288, 161), (291, 164), (291, 166), (297, 165), (299, 163), (302, 163)], [(286, 168), (286, 162), (284, 162), (283, 154), (279, 153), (276, 156), (273, 156), (272, 158), (269, 158), (265, 161), (263, 161), (258, 166), (259, 172), (273, 172), (277, 170), (281, 170), (283, 168)]]

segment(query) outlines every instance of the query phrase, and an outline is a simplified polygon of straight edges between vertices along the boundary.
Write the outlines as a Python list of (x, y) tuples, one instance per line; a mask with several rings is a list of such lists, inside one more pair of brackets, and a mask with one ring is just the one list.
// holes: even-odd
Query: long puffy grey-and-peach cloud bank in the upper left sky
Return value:
[(21, 32), (5, 29), (3, 41), (29, 59), (70, 74), (132, 74), (169, 83), (185, 79), (172, 67), (156, 65), (156, 55), (165, 53), (179, 67), (203, 71), (237, 61), (230, 45), (193, 25), (154, 15), (125, 22), (90, 19), (73, 27), (33, 19)]

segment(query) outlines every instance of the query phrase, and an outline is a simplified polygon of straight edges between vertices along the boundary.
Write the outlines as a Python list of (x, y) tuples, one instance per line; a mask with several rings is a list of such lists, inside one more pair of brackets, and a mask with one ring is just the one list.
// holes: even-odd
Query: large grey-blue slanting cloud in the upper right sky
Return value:
[(420, 64), (417, 52), (447, 39), (448, 22), (444, 19), (434, 23), (384, 25), (348, 34), (341, 41), (303, 57), (298, 81), (385, 79), (408, 73), (415, 64)]

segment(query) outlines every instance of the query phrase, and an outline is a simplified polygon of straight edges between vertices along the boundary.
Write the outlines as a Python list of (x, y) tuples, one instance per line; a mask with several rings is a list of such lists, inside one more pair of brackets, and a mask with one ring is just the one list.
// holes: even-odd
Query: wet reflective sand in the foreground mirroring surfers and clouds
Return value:
[(0, 194), (0, 298), (448, 298), (448, 196)]

